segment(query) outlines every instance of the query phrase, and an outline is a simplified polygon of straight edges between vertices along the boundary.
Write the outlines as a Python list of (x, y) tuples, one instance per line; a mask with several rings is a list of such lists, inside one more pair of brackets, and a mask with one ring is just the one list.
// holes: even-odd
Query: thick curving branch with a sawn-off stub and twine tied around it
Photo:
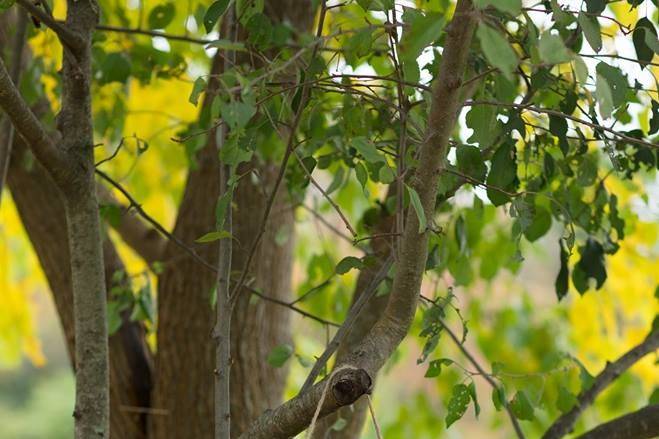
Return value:
[[(428, 132), (420, 149), (419, 167), (411, 179), (426, 216), (431, 215), (435, 208), (439, 174), (456, 114), (462, 105), (459, 96), (475, 24), (471, 2), (458, 1), (447, 29), (446, 46), (434, 84)], [(325, 389), (328, 391), (320, 406), (321, 416), (351, 404), (369, 391), (373, 382), (371, 377), (376, 375), (403, 340), (414, 318), (428, 253), (428, 233), (427, 230), (420, 233), (416, 213), (408, 209), (389, 304), (363, 342), (342, 364), (346, 367), (338, 370), (341, 367), (338, 365), (337, 372), (330, 378), (263, 414), (241, 438), (295, 436), (309, 425)]]

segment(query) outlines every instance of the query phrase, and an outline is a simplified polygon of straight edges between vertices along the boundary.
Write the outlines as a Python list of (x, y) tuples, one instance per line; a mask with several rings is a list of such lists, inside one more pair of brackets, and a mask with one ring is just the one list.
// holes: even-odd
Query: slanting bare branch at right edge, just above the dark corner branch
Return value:
[(592, 386), (577, 397), (577, 402), (570, 411), (561, 415), (549, 427), (542, 439), (560, 439), (570, 433), (581, 413), (595, 402), (595, 398), (615, 381), (623, 372), (632, 367), (638, 360), (659, 348), (659, 330), (653, 330), (640, 344), (634, 346), (613, 363), (607, 363)]

